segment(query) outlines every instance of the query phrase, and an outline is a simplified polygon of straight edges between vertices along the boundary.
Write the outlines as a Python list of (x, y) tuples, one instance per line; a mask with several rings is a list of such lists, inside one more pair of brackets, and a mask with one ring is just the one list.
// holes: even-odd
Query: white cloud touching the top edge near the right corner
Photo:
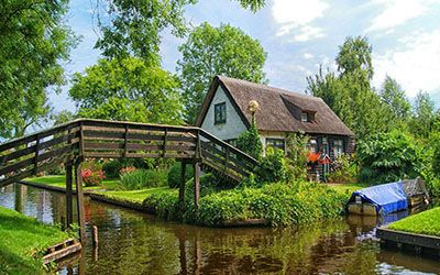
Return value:
[(384, 9), (373, 19), (366, 32), (393, 31), (395, 26), (418, 18), (427, 11), (426, 1), (421, 0), (374, 0), (373, 4), (382, 6)]

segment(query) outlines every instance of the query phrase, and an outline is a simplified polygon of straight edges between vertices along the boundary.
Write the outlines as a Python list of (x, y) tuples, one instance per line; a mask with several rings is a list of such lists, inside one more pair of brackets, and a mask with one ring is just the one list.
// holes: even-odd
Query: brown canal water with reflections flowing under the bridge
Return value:
[[(0, 206), (45, 223), (61, 222), (65, 205), (64, 194), (20, 184), (0, 189)], [(84, 254), (66, 261), (61, 274), (440, 274), (438, 260), (381, 250), (375, 218), (211, 229), (87, 199), (86, 221)], [(91, 226), (99, 228), (98, 249)]]

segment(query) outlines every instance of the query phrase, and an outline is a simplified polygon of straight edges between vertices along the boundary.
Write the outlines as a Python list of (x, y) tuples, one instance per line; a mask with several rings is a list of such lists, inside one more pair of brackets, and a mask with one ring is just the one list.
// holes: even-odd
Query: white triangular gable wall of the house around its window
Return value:
[[(227, 103), (227, 122), (215, 124), (215, 106), (222, 102)], [(209, 106), (204, 122), (201, 123), (201, 129), (223, 141), (237, 139), (241, 133), (246, 131), (246, 127), (220, 86), (217, 88), (216, 95), (212, 98), (212, 102)]]

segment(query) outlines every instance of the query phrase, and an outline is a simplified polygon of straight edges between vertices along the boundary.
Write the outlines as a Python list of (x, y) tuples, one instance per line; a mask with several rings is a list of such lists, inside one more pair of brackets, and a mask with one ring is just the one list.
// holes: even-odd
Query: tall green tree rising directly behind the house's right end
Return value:
[(339, 118), (363, 139), (388, 129), (384, 102), (371, 88), (372, 47), (366, 37), (348, 37), (336, 58), (338, 72), (319, 69), (307, 78), (307, 92), (321, 97)]

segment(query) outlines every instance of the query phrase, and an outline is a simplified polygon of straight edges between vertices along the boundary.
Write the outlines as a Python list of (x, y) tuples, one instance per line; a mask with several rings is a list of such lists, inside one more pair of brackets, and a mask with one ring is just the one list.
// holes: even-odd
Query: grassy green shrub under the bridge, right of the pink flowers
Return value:
[(121, 175), (121, 188), (125, 190), (138, 190), (164, 186), (167, 172), (162, 169), (136, 169)]

